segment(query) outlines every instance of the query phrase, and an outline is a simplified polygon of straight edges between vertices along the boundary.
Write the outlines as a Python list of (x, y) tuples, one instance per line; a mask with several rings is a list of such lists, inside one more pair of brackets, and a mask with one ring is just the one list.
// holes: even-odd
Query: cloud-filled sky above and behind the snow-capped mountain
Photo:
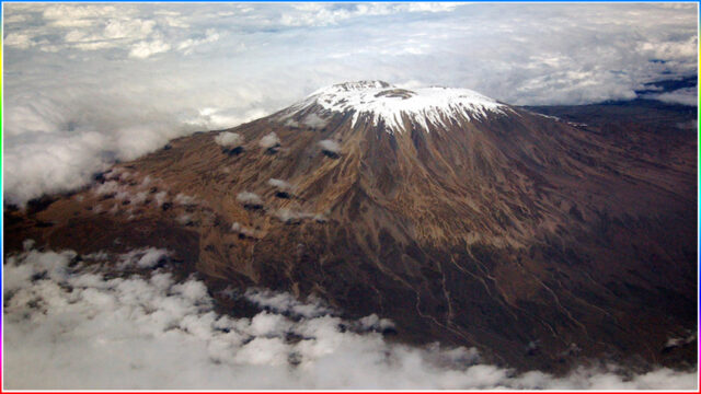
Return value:
[[(4, 190), (67, 192), (169, 139), (329, 84), (627, 100), (696, 76), (693, 3), (3, 3)], [(648, 99), (693, 105), (696, 89)]]

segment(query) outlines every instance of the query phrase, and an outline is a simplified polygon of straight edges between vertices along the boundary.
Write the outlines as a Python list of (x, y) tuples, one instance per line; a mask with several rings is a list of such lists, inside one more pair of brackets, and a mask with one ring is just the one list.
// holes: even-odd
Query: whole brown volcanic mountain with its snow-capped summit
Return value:
[(633, 149), (469, 90), (342, 83), (5, 207), (5, 247), (165, 247), (222, 311), (230, 287), (314, 294), (519, 369), (693, 363), (696, 341), (667, 345), (697, 329), (696, 140), (655, 138)]

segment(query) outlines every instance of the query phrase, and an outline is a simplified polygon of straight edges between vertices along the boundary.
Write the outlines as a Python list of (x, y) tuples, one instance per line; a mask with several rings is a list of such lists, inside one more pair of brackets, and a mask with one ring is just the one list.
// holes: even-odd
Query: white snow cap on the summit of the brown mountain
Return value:
[[(429, 125), (447, 127), (450, 121), (473, 120), (487, 114), (505, 114), (508, 107), (467, 89), (401, 89), (383, 81), (358, 81), (320, 89), (292, 105), (289, 116), (317, 108), (322, 113), (353, 113), (353, 126), (368, 119), (384, 125), (388, 132), (403, 132), (414, 124), (428, 131)], [(409, 121), (409, 124), (407, 124)]]

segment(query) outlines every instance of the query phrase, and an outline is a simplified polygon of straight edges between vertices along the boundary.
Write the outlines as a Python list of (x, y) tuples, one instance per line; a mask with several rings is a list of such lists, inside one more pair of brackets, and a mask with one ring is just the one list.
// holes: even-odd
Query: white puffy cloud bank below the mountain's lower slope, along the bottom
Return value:
[[(146, 256), (146, 255), (143, 255)], [(480, 362), (474, 349), (387, 341), (368, 316), (251, 289), (265, 308), (221, 315), (204, 282), (162, 269), (115, 276), (107, 255), (27, 250), (4, 265), (10, 390), (694, 390), (696, 372), (616, 366), (556, 378)], [(143, 257), (142, 257), (143, 258)], [(233, 293), (233, 292), (232, 292)], [(401, 327), (398, 327), (401, 329)], [(299, 338), (290, 340), (290, 338)], [(41, 368), (37, 368), (41, 366)]]

